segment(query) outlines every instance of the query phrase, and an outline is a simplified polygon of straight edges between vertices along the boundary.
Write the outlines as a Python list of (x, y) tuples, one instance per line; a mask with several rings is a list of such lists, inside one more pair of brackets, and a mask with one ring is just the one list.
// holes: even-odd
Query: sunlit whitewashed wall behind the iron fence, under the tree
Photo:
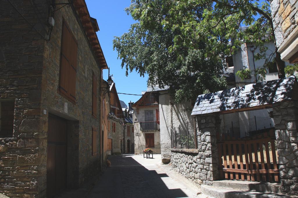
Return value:
[(187, 123), (189, 132), (194, 133), (193, 117), (191, 111), (193, 106), (190, 102), (176, 104), (167, 91), (159, 92), (159, 120), (160, 120), (160, 147), (162, 157), (171, 156), (171, 129), (178, 127), (185, 130)]

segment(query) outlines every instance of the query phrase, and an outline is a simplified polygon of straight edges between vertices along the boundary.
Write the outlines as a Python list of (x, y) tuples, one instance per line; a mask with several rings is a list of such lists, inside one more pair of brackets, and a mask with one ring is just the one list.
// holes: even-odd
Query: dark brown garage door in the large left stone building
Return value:
[(49, 115), (47, 149), (47, 197), (66, 189), (66, 120)]

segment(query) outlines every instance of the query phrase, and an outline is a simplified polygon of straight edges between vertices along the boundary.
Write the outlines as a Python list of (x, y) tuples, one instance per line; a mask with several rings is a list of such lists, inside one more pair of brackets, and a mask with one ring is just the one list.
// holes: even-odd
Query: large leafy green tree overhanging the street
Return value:
[[(126, 75), (133, 70), (141, 76), (148, 73), (149, 85), (171, 86), (176, 102), (226, 88), (224, 59), (244, 41), (260, 47), (255, 58), (266, 60), (255, 75), (264, 78), (269, 63), (276, 61), (279, 76), (284, 77), (277, 49), (266, 55), (264, 43), (275, 42), (266, 2), (132, 0), (126, 12), (137, 23), (114, 39), (122, 68)], [(243, 31), (243, 25), (249, 28)]]

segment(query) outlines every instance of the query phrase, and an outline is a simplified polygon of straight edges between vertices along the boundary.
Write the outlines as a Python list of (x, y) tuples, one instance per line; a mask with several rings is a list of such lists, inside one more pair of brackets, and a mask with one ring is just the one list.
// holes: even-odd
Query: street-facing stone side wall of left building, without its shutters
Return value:
[[(64, 1), (56, 1), (64, 3)], [(44, 66), (42, 78), (41, 108), (49, 113), (58, 115), (67, 120), (79, 121), (79, 139), (73, 144), (80, 145), (77, 155), (79, 165), (79, 180), (72, 181), (77, 186), (100, 171), (100, 148), (97, 145), (97, 155), (92, 155), (92, 127), (97, 131), (97, 142), (100, 142), (100, 82), (101, 70), (93, 56), (86, 39), (85, 32), (80, 27), (80, 21), (75, 17), (71, 7), (63, 7), (55, 12), (55, 26), (51, 33), (51, 40), (44, 46)], [(76, 68), (76, 103), (57, 92), (60, 77), (60, 47), (62, 37), (62, 23), (66, 23), (77, 41), (77, 68)], [(98, 79), (97, 83), (97, 115), (92, 115), (92, 74)], [(72, 133), (72, 132), (71, 132)], [(71, 164), (73, 161), (68, 161)], [(70, 168), (70, 167), (68, 167)]]

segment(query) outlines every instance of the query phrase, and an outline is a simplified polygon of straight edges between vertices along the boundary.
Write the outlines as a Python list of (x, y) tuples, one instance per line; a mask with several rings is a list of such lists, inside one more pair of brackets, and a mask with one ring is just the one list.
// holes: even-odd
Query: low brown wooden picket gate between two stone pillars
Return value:
[[(217, 134), (221, 179), (248, 181), (279, 181), (275, 133), (269, 132), (245, 138)], [(233, 156), (233, 158), (232, 158)]]

